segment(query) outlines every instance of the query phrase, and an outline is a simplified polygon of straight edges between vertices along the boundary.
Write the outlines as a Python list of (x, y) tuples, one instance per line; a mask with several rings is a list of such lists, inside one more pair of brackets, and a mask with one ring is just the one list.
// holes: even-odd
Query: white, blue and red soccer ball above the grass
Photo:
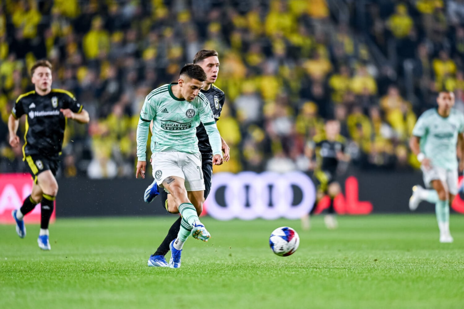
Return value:
[(278, 227), (269, 237), (271, 250), (281, 257), (292, 255), (298, 249), (299, 244), (300, 237), (291, 227)]

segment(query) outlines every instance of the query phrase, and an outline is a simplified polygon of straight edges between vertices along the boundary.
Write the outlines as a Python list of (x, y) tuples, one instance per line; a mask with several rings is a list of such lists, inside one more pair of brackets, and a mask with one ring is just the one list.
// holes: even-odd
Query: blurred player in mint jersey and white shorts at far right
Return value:
[(419, 117), (409, 141), (412, 152), (421, 163), (425, 186), (435, 192), (415, 186), (409, 207), (415, 210), (421, 200), (436, 202), (439, 240), (449, 243), (453, 241), (450, 203), (458, 193), (458, 168), (462, 170), (464, 166), (463, 158), (458, 166), (456, 151), (457, 145), (464, 145), (464, 114), (452, 108), (454, 97), (449, 92), (440, 92), (437, 103), (437, 108), (429, 109)]

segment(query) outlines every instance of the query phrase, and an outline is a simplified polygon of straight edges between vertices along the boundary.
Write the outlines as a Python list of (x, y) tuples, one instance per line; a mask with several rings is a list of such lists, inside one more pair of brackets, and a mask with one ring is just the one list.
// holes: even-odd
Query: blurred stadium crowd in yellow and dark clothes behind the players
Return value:
[(24, 170), (6, 123), (35, 60), (90, 114), (88, 126), (68, 122), (62, 175), (133, 177), (145, 96), (202, 48), (219, 52), (226, 93), (218, 128), (231, 161), (216, 171), (308, 170), (305, 145), (329, 118), (359, 168), (418, 168), (407, 140), (433, 94), (454, 91), (464, 111), (464, 1), (340, 0), (348, 19), (332, 2), (2, 1), (0, 172)]

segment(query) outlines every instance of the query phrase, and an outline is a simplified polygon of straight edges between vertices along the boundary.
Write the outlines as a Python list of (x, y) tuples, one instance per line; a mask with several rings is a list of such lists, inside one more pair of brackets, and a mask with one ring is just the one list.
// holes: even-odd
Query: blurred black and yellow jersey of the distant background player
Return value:
[(328, 171), (334, 176), (338, 166), (337, 153), (344, 152), (345, 146), (346, 139), (340, 134), (334, 140), (327, 139), (325, 134), (316, 135), (309, 142), (309, 147), (314, 149), (316, 155), (316, 169)]

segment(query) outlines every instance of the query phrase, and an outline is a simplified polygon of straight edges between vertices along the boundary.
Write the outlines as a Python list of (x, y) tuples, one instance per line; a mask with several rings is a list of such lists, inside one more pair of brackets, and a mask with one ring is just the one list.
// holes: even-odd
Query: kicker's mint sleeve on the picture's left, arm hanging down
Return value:
[(137, 125), (137, 159), (147, 161), (147, 139), (150, 121), (156, 116), (156, 101), (152, 97), (145, 98), (142, 111), (140, 112), (139, 124)]

